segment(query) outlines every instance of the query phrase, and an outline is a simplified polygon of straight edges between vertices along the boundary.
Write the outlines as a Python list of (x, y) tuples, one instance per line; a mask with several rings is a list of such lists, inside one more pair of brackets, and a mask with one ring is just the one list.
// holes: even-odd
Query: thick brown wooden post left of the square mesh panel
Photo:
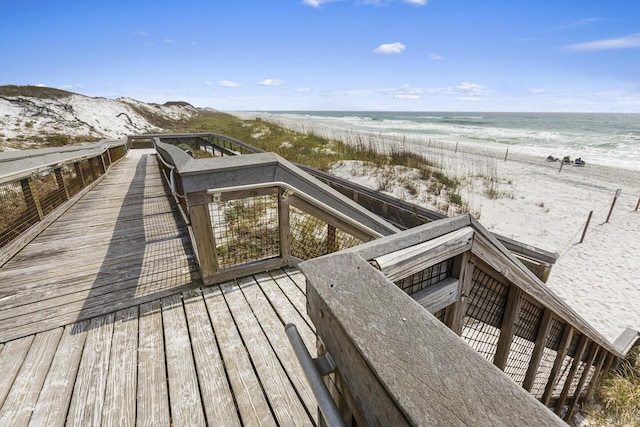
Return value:
[(211, 217), (209, 216), (209, 204), (203, 203), (189, 206), (189, 218), (198, 249), (198, 260), (202, 279), (216, 273), (220, 267), (216, 252), (216, 241), (213, 236)]

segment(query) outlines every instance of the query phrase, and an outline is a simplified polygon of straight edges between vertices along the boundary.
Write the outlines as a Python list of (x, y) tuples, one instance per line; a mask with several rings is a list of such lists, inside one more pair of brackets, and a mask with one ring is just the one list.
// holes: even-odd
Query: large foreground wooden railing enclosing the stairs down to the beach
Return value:
[(533, 398), (568, 419), (639, 336), (609, 342), (469, 215), (299, 267), (347, 424), (547, 425)]

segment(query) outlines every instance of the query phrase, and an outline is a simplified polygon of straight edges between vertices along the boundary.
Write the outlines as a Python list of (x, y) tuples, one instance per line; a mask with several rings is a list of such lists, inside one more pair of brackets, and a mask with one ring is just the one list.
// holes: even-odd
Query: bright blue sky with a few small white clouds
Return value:
[(11, 1), (0, 84), (220, 110), (640, 112), (637, 0)]

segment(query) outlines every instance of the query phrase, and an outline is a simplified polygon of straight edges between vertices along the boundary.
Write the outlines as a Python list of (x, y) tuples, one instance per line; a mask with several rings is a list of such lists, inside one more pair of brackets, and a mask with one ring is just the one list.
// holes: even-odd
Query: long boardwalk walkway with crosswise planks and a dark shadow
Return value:
[(198, 284), (152, 150), (132, 150), (0, 269), (0, 342)]

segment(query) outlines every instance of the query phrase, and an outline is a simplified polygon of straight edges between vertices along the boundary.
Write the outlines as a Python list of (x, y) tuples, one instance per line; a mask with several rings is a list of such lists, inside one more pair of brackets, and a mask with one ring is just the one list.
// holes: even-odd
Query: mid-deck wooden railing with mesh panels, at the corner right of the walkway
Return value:
[(273, 153), (193, 159), (154, 138), (203, 281), (296, 265), (397, 232)]

